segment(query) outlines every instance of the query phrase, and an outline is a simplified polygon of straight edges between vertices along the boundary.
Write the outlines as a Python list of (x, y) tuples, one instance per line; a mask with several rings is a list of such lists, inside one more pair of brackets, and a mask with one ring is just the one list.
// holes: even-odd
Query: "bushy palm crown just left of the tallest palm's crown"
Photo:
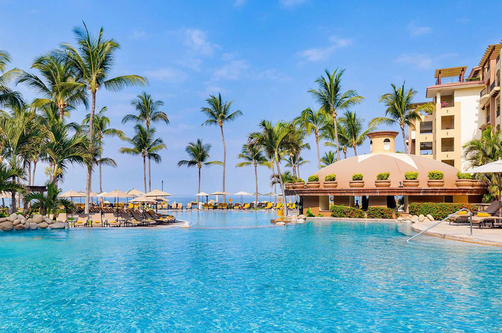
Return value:
[(60, 120), (63, 120), (65, 113), (68, 114), (68, 109), (73, 109), (78, 104), (87, 107), (85, 89), (79, 85), (65, 85), (65, 83), (75, 83), (75, 70), (67, 58), (44, 54), (35, 59), (32, 68), (39, 70), (43, 79), (23, 71), (16, 83), (26, 83), (29, 88), (42, 96), (36, 98), (32, 106), (40, 108), (52, 104), (58, 108)]

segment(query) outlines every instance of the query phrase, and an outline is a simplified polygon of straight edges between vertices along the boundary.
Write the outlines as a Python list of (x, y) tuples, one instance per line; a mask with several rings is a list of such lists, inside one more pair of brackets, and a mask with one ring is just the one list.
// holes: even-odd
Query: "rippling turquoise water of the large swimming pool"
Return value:
[(0, 233), (0, 329), (500, 330), (498, 248), (407, 244), (395, 224), (178, 215), (194, 228)]

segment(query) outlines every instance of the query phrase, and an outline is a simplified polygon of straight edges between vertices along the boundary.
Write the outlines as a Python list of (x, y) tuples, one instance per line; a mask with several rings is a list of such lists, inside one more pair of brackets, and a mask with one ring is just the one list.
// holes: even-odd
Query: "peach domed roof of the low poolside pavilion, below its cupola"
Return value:
[(376, 174), (391, 173), (391, 187), (399, 187), (408, 171), (418, 172), (419, 187), (427, 187), (429, 171), (444, 173), (444, 187), (455, 187), (458, 169), (441, 161), (420, 155), (403, 153), (371, 153), (339, 160), (315, 173), (322, 183), (329, 174), (336, 175), (338, 188), (348, 188), (353, 174), (362, 174), (364, 188), (374, 188)]

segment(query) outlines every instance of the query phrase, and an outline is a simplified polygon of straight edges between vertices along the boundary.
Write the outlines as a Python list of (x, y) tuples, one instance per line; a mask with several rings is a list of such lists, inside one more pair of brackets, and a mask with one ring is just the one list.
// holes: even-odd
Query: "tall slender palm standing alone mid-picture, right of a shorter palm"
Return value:
[[(218, 94), (218, 97), (214, 95), (209, 95), (209, 98), (206, 99), (209, 107), (203, 107), (200, 111), (206, 115), (207, 120), (202, 123), (202, 125), (218, 125), (221, 131), (221, 142), (223, 143), (223, 186), (222, 191), (225, 192), (225, 167), (226, 167), (226, 145), (225, 145), (225, 136), (223, 135), (223, 124), (225, 122), (234, 121), (239, 116), (242, 115), (240, 110), (230, 112), (230, 107), (233, 104), (233, 101), (225, 101), (223, 103), (221, 99), (221, 94)], [(225, 196), (223, 196), (223, 201), (225, 200)]]

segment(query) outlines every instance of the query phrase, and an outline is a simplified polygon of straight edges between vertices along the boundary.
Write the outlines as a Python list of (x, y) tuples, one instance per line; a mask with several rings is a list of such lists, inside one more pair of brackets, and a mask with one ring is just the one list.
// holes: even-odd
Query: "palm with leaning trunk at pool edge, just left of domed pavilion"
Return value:
[[(274, 157), (277, 174), (281, 175), (280, 156), (286, 150), (293, 148), (295, 144), (295, 126), (290, 122), (278, 121), (276, 124), (268, 120), (262, 120), (259, 124), (260, 131), (249, 134), (249, 143), (262, 147), (269, 156)], [(286, 202), (284, 182), (280, 179), (283, 201)], [(285, 216), (288, 215), (287, 205), (284, 205)]]

